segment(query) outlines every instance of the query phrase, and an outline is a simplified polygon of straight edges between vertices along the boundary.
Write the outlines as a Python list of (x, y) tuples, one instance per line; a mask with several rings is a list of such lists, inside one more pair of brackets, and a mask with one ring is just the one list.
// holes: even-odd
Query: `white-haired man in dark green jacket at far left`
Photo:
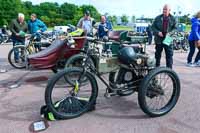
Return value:
[[(10, 31), (12, 32), (11, 39), (13, 40), (13, 47), (17, 44), (24, 44), (25, 33), (28, 32), (28, 25), (24, 21), (24, 14), (19, 13), (17, 19), (13, 19), (10, 23)], [(19, 53), (14, 51), (15, 62), (19, 62)]]

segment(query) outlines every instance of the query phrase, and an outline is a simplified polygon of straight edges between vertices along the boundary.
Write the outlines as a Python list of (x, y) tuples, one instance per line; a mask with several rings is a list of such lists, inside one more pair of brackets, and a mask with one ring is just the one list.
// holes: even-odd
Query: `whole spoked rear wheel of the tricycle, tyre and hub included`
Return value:
[(169, 68), (150, 71), (141, 82), (138, 101), (141, 109), (151, 117), (167, 114), (176, 105), (180, 95), (180, 80)]

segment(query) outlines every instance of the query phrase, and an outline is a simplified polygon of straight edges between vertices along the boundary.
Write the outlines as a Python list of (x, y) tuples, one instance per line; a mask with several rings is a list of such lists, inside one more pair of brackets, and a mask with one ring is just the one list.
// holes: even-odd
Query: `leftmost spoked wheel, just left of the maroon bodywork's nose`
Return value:
[(8, 61), (14, 67), (23, 69), (26, 67), (26, 48), (24, 46), (15, 46), (8, 53)]

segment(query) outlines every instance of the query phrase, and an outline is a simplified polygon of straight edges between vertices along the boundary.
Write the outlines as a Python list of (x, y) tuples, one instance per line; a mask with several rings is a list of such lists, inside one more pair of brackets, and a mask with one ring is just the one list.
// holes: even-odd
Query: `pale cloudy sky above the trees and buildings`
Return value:
[[(136, 17), (155, 17), (162, 12), (164, 4), (170, 4), (173, 12), (179, 10), (182, 14), (194, 14), (200, 10), (199, 0), (23, 0), (31, 1), (33, 4), (41, 2), (64, 2), (73, 3), (76, 5), (91, 4), (97, 10), (104, 14), (108, 12), (111, 15), (120, 16), (126, 14), (128, 16), (135, 15)], [(198, 1), (198, 2), (197, 2)]]

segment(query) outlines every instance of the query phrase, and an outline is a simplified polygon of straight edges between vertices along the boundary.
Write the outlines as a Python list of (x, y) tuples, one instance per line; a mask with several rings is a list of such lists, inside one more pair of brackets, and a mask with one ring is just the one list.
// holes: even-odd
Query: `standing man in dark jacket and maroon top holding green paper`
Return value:
[(173, 46), (165, 45), (163, 40), (169, 32), (172, 32), (176, 28), (175, 18), (170, 14), (170, 6), (164, 5), (163, 14), (157, 16), (153, 22), (152, 30), (155, 35), (156, 44), (156, 66), (160, 66), (160, 59), (163, 49), (166, 53), (166, 66), (172, 68), (173, 65)]

